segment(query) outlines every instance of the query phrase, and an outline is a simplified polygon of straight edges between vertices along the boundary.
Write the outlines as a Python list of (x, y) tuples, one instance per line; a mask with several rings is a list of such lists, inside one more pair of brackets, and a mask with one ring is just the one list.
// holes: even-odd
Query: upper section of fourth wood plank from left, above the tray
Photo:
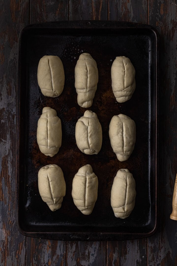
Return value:
[(109, 20), (148, 22), (148, 1), (113, 0), (109, 1)]

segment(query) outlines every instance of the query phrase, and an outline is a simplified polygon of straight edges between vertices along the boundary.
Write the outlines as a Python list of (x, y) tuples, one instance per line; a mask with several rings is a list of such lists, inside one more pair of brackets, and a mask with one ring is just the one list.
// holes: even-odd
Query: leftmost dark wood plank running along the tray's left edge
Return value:
[(0, 264), (25, 265), (25, 237), (15, 225), (16, 69), (28, 0), (0, 2)]

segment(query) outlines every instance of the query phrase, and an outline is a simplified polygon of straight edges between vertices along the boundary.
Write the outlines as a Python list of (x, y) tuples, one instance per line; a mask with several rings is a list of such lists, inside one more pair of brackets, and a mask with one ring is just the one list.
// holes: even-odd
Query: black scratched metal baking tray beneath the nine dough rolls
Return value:
[[(24, 28), (19, 39), (17, 121), (17, 226), (22, 234), (51, 239), (101, 240), (144, 237), (157, 228), (157, 33), (150, 26), (120, 22), (44, 23)], [(88, 52), (97, 62), (99, 81), (89, 108), (100, 120), (103, 142), (98, 155), (85, 155), (76, 146), (75, 125), (84, 109), (77, 104), (74, 69)], [(57, 98), (45, 97), (37, 83), (37, 66), (44, 55), (61, 58), (65, 85)], [(132, 98), (118, 103), (111, 88), (111, 65), (116, 56), (129, 57), (136, 70)], [(37, 121), (42, 109), (57, 111), (62, 122), (62, 146), (54, 157), (38, 148)], [(127, 161), (119, 162), (109, 140), (109, 123), (125, 114), (136, 123), (136, 144)], [(62, 207), (50, 211), (38, 192), (41, 167), (59, 165), (66, 182)], [(83, 215), (71, 196), (78, 169), (92, 165), (98, 177), (98, 199), (92, 214)], [(116, 172), (127, 168), (136, 181), (136, 201), (126, 219), (114, 216), (110, 193)]]

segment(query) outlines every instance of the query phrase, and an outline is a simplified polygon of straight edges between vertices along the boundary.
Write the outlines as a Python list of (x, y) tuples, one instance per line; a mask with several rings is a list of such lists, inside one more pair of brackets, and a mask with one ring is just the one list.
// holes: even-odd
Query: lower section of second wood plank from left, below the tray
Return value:
[(28, 238), (26, 265), (65, 265), (65, 241)]

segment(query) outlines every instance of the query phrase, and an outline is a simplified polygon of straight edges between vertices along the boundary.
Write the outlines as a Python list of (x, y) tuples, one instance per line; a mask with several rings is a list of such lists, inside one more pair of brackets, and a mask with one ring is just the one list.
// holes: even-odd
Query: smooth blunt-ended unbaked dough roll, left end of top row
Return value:
[(64, 87), (64, 69), (58, 56), (45, 55), (38, 64), (37, 81), (44, 96), (57, 97)]

